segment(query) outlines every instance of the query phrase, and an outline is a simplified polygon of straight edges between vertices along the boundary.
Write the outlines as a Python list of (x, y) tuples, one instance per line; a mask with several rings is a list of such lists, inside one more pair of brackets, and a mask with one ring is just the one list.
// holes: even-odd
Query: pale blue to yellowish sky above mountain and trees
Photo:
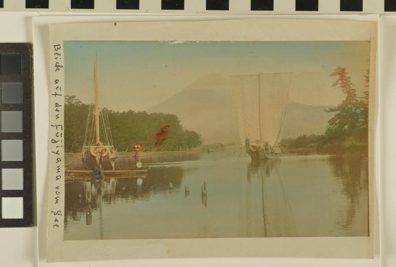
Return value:
[[(370, 44), (350, 42), (129, 42), (65, 41), (65, 93), (93, 102), (93, 64), (98, 53), (100, 103), (144, 110), (204, 75), (296, 72), (292, 101), (335, 105), (343, 95), (329, 77), (347, 67), (358, 91), (369, 68)], [(308, 74), (307, 74), (308, 73)]]

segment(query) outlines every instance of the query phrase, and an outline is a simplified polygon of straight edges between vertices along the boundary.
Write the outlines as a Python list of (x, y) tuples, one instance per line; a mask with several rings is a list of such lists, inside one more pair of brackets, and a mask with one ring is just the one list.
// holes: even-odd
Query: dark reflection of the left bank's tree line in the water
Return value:
[(117, 200), (134, 201), (149, 199), (152, 194), (167, 194), (169, 182), (173, 183), (174, 190), (179, 190), (182, 179), (183, 171), (179, 167), (157, 167), (148, 170), (148, 175), (141, 184), (138, 184), (138, 178), (85, 178), (67, 181), (65, 228), (68, 219), (80, 221), (82, 215), (86, 217), (86, 223), (91, 224), (91, 213), (99, 212), (101, 204), (113, 205)]

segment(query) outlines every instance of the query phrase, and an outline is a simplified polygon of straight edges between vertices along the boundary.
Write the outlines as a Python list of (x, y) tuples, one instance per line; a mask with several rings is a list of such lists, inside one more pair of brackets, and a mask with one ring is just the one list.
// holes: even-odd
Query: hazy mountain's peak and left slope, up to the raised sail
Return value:
[(177, 115), (183, 127), (199, 133), (206, 144), (233, 143), (239, 138), (229, 81), (218, 74), (200, 78), (146, 111)]

